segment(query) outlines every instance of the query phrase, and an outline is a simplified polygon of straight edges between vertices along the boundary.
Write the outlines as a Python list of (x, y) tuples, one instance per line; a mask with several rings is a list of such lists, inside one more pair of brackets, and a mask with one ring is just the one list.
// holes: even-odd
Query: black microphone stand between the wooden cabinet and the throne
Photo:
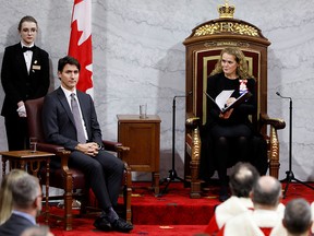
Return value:
[[(192, 94), (192, 92), (189, 93), (189, 95)], [(177, 97), (186, 97), (186, 95), (178, 95), (173, 97), (173, 102), (172, 102), (172, 168), (169, 170), (169, 176), (167, 178), (165, 178), (165, 180), (162, 180), (161, 182), (167, 181), (167, 185), (165, 186), (165, 188), (162, 189), (162, 191), (159, 193), (158, 197), (161, 197), (162, 194), (165, 194), (168, 190), (169, 185), (178, 179), (180, 181), (185, 181), (183, 178), (180, 178), (177, 174), (176, 170), (176, 163), (174, 163), (174, 149), (176, 149), (176, 98)]]

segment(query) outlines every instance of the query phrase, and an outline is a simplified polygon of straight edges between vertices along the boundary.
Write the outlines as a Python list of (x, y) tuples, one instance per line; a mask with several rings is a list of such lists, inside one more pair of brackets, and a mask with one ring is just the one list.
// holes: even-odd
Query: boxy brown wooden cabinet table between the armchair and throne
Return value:
[(159, 194), (160, 118), (148, 115), (118, 115), (118, 141), (130, 146), (125, 161), (132, 172), (149, 172), (155, 194)]

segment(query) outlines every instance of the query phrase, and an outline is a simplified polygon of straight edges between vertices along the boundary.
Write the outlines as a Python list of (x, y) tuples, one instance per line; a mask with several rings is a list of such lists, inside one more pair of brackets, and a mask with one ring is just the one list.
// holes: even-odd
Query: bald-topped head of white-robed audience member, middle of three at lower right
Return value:
[(281, 200), (281, 184), (271, 176), (262, 176), (253, 186), (251, 198), (255, 209), (277, 210)]

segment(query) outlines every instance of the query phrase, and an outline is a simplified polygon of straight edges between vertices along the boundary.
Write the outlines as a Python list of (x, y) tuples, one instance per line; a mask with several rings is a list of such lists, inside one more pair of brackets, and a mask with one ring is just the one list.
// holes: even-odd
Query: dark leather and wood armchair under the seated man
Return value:
[[(70, 151), (67, 151), (63, 146), (58, 146), (49, 143), (45, 143), (44, 131), (41, 126), (41, 110), (43, 110), (44, 97), (37, 99), (31, 99), (25, 102), (27, 113), (27, 125), (29, 137), (36, 137), (38, 140), (37, 150), (56, 154), (56, 158), (60, 158), (61, 167), (50, 167), (49, 185), (55, 188), (63, 189), (63, 196), (49, 197), (49, 199), (63, 199), (64, 200), (64, 214), (61, 217), (64, 222), (64, 229), (72, 229), (73, 212), (72, 202), (73, 199), (80, 199), (82, 202), (80, 213), (86, 212), (86, 204), (88, 202), (89, 188), (85, 184), (85, 176), (80, 169), (69, 168), (68, 161)], [(102, 141), (107, 151), (117, 152), (119, 157), (126, 155), (129, 148), (123, 146), (118, 142)], [(43, 170), (44, 172), (44, 170)], [(46, 184), (46, 173), (39, 174), (40, 182)], [(125, 220), (131, 223), (131, 193), (132, 193), (132, 176), (131, 168), (125, 163), (124, 178), (121, 184), (123, 190), (124, 200), (124, 214)], [(77, 190), (81, 191), (77, 191)], [(60, 217), (58, 215), (51, 215), (52, 217)]]

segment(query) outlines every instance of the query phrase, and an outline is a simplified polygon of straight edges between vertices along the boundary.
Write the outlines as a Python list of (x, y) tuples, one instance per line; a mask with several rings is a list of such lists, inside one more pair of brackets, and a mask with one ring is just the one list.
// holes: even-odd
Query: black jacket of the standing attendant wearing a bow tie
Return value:
[(49, 56), (34, 46), (29, 74), (27, 72), (21, 43), (5, 48), (1, 82), (5, 93), (1, 115), (17, 116), (20, 101), (43, 97), (49, 88)]

